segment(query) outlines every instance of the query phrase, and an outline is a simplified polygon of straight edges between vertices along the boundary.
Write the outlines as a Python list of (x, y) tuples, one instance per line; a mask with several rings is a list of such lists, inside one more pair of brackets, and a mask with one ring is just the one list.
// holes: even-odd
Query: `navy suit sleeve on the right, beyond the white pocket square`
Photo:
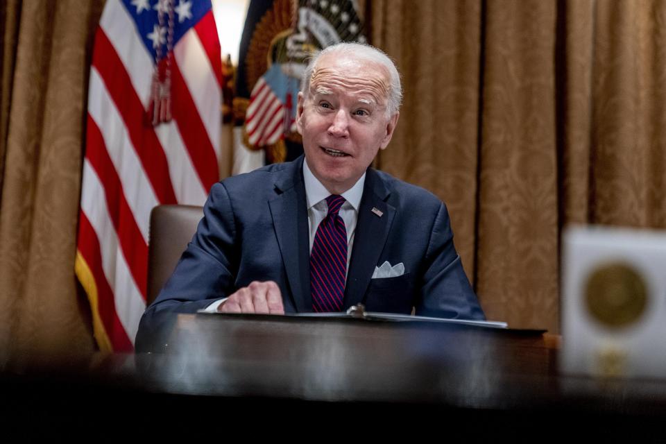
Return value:
[(416, 314), (479, 321), (486, 318), (456, 253), (449, 214), (443, 203), (428, 241)]

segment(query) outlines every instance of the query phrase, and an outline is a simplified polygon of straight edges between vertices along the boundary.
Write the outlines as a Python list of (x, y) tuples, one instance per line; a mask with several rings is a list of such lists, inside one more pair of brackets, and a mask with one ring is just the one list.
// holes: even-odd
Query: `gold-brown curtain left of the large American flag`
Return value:
[(0, 368), (94, 351), (74, 278), (85, 102), (101, 1), (0, 5)]

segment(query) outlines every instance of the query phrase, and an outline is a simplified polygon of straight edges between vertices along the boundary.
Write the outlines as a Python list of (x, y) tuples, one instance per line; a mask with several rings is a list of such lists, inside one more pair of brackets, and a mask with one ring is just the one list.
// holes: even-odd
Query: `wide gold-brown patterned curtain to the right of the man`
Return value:
[(405, 101), (377, 164), (450, 209), (491, 319), (558, 331), (570, 223), (664, 228), (666, 2), (373, 0)]

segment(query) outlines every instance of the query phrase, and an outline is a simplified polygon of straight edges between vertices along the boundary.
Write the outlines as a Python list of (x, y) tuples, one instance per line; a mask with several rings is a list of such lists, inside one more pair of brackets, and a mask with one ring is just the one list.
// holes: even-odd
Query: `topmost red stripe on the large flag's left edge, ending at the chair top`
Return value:
[[(98, 28), (95, 37), (92, 65), (99, 71), (109, 95), (121, 114), (134, 149), (151, 181), (155, 196), (160, 203), (176, 203), (176, 194), (169, 178), (167, 156), (164, 155), (153, 127), (146, 125), (142, 102), (135, 92), (123, 62), (102, 28)], [(146, 76), (149, 74), (146, 73)]]

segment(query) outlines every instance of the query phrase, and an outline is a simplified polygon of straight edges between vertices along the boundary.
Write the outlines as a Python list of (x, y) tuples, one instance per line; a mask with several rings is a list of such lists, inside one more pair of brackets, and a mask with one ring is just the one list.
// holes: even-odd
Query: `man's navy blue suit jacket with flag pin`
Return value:
[[(301, 156), (212, 187), (194, 238), (142, 317), (137, 350), (168, 330), (169, 314), (194, 313), (253, 280), (277, 282), (286, 313), (312, 311), (302, 163)], [(402, 262), (404, 275), (371, 279), (384, 261)], [(371, 168), (344, 309), (359, 302), (368, 311), (409, 314), (416, 307), (424, 316), (484, 319), (454, 248), (445, 205), (425, 189)]]

